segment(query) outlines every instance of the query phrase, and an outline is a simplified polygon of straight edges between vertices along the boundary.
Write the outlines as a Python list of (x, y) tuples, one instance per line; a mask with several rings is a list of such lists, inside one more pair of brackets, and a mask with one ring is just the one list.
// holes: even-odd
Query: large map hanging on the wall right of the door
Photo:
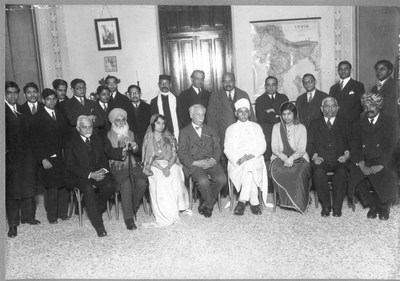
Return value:
[(320, 19), (290, 19), (251, 23), (255, 97), (265, 92), (268, 76), (278, 79), (278, 92), (289, 100), (305, 92), (303, 75), (311, 73), (321, 81)]

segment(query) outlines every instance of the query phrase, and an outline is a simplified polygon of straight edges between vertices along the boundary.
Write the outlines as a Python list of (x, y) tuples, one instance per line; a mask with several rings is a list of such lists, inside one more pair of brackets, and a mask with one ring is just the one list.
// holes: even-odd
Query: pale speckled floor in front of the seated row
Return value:
[(83, 227), (76, 215), (50, 225), (39, 199), (42, 224), (6, 239), (7, 279), (400, 279), (399, 205), (380, 221), (360, 204), (352, 212), (344, 203), (341, 218), (322, 218), (314, 204), (304, 215), (264, 207), (254, 216), (247, 207), (243, 217), (215, 206), (210, 219), (195, 204), (193, 216), (158, 229), (140, 226), (153, 221), (140, 208), (134, 231), (112, 210), (103, 216), (108, 237), (97, 238), (86, 215)]

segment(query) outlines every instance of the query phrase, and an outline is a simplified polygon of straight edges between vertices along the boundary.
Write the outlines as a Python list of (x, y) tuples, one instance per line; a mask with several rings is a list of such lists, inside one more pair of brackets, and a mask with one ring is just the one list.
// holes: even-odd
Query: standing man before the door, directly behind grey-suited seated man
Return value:
[(204, 89), (204, 78), (205, 74), (203, 70), (194, 70), (192, 75), (190, 75), (192, 86), (179, 95), (179, 112), (182, 127), (187, 126), (191, 122), (189, 107), (194, 104), (201, 104), (205, 108), (208, 106), (211, 93)]

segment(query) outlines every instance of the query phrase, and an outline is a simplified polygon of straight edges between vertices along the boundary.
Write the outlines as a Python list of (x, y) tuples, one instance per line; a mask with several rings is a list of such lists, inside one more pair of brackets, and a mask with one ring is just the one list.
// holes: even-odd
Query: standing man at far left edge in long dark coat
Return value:
[(6, 212), (8, 237), (17, 236), (21, 223), (40, 224), (33, 212), (36, 186), (29, 124), (17, 104), (19, 87), (13, 81), (5, 84), (6, 121)]

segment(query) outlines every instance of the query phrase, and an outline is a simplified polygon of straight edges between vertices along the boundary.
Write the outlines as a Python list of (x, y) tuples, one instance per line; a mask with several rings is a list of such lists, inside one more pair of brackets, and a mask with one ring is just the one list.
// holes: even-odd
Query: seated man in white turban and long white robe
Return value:
[(250, 103), (240, 99), (235, 103), (236, 123), (225, 133), (225, 155), (228, 158), (228, 175), (236, 190), (240, 191), (235, 215), (243, 215), (246, 202), (250, 201), (253, 214), (261, 215), (258, 186), (263, 192), (264, 202), (268, 195), (268, 175), (264, 162), (267, 147), (261, 126), (249, 121)]

